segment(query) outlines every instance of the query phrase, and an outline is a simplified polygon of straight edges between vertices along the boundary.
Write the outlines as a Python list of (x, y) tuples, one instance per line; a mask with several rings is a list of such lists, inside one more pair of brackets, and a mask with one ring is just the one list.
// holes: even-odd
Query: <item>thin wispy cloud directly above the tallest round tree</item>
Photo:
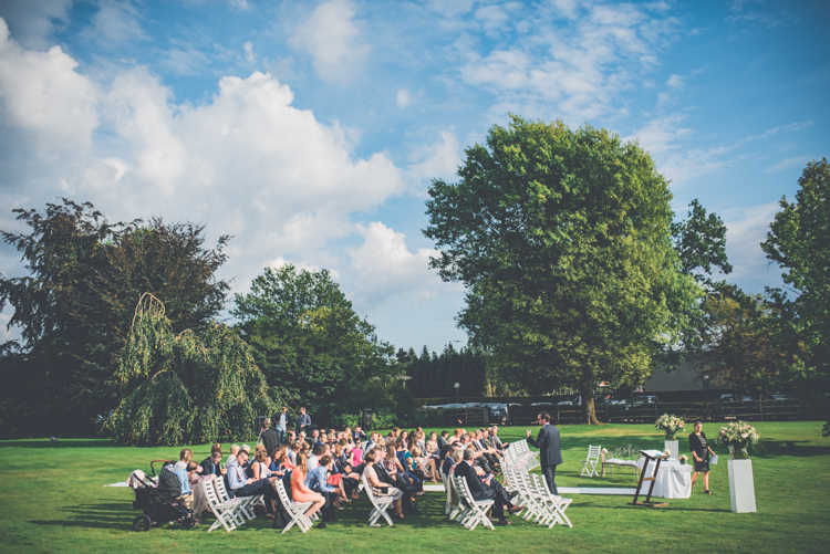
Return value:
[(519, 21), (518, 40), (485, 54), (469, 41), (457, 42), (463, 81), (499, 98), (491, 113), (510, 108), (578, 124), (605, 115), (615, 109), (620, 93), (657, 63), (677, 25), (673, 18), (652, 18), (649, 6), (561, 3), (557, 9), (580, 17), (557, 25), (543, 15)]

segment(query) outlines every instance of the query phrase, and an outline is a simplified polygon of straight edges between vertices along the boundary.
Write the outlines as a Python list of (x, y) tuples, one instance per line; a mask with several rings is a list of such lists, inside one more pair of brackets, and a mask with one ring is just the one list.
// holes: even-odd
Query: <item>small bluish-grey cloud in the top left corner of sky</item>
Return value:
[(2, 17), (12, 30), (14, 40), (27, 49), (49, 50), (55, 27), (69, 23), (71, 0), (3, 0)]

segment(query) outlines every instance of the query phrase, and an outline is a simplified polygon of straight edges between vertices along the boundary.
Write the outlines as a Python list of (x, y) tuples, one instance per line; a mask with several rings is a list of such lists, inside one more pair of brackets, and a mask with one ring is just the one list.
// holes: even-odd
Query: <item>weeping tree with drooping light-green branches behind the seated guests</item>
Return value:
[(277, 411), (281, 396), (229, 327), (212, 322), (201, 334), (174, 335), (164, 304), (148, 293), (136, 306), (115, 378), (125, 396), (104, 429), (131, 446), (252, 439), (256, 417)]

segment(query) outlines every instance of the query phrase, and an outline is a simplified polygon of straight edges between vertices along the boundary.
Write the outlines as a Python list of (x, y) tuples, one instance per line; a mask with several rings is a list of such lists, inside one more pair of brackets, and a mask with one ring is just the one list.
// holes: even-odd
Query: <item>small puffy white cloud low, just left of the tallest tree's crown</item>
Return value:
[(432, 289), (440, 284), (440, 278), (429, 269), (429, 257), (437, 255), (436, 250), (409, 252), (406, 236), (380, 221), (359, 224), (357, 232), (363, 236), (363, 244), (347, 249), (347, 253), (355, 283), (360, 283), (355, 291), (359, 301), (377, 305), (398, 295), (417, 300), (435, 294)]

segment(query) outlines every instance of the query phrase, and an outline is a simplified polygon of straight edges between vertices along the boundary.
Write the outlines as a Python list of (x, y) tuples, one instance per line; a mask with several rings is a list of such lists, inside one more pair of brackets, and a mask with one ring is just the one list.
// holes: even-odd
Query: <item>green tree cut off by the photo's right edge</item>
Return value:
[[(830, 166), (827, 158), (807, 164), (798, 180), (796, 201), (781, 198), (761, 249), (785, 272), (796, 297), (778, 294), (782, 321), (803, 355), (793, 359), (793, 385), (805, 399), (820, 403), (830, 419)], [(830, 429), (827, 429), (830, 432)]]

